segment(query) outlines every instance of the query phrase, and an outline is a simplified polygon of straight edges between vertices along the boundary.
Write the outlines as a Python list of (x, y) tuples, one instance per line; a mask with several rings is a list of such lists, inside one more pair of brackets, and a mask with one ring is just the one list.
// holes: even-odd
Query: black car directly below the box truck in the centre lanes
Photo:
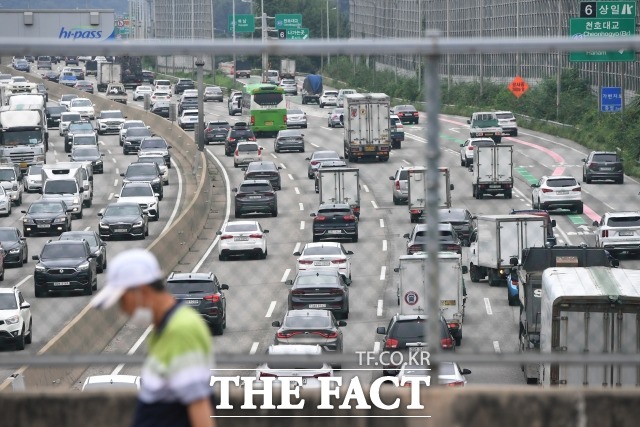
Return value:
[(321, 239), (351, 239), (358, 241), (358, 218), (346, 203), (321, 204), (313, 217), (313, 241)]

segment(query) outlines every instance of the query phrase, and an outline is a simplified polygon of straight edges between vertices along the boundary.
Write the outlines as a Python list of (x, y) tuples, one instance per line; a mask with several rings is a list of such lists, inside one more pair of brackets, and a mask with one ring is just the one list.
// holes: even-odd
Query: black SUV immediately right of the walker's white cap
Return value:
[(213, 273), (171, 273), (167, 279), (167, 291), (200, 313), (214, 335), (222, 335), (227, 327), (227, 298), (222, 291), (228, 289)]

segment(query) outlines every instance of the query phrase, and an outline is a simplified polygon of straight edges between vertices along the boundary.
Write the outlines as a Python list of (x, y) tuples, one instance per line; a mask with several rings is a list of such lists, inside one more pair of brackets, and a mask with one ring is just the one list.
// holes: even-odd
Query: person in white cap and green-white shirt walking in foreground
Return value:
[(211, 405), (211, 336), (200, 314), (165, 289), (156, 257), (131, 249), (109, 262), (105, 287), (91, 301), (115, 303), (132, 321), (154, 330), (140, 376), (134, 427), (215, 427)]

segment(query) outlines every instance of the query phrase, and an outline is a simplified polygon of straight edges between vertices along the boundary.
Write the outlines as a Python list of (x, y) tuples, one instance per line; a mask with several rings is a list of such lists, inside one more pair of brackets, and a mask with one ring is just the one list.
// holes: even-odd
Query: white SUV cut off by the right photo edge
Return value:
[(600, 221), (593, 222), (598, 227), (596, 247), (609, 251), (612, 255), (624, 251), (640, 251), (640, 212), (607, 212)]

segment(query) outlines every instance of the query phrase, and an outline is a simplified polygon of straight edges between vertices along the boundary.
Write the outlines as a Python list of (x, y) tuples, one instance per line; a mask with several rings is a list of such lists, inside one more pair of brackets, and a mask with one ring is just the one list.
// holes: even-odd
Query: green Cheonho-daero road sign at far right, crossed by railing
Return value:
[[(635, 18), (571, 18), (569, 20), (569, 35), (577, 39), (627, 37), (633, 36), (635, 33)], [(635, 59), (636, 53), (630, 50), (571, 52), (569, 54), (569, 60), (574, 62), (633, 62)]]

